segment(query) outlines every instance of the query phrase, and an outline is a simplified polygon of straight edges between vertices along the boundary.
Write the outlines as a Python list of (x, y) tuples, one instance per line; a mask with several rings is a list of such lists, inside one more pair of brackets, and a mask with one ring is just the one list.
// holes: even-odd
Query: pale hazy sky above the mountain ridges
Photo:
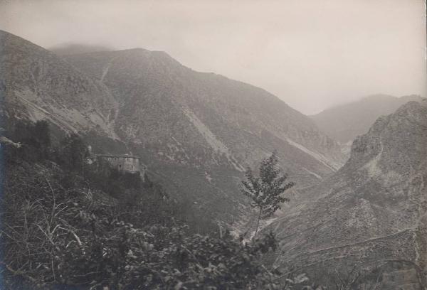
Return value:
[(0, 29), (61, 43), (164, 50), (305, 114), (366, 95), (426, 97), (423, 0), (0, 0)]

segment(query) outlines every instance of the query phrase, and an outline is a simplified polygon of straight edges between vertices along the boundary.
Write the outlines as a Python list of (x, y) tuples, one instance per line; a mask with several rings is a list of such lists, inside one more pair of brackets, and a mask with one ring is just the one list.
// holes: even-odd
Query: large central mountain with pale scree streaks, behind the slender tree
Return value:
[(166, 53), (132, 49), (66, 60), (110, 88), (120, 104), (117, 134), (167, 190), (189, 196), (201, 212), (214, 209), (229, 221), (248, 213), (238, 188), (243, 170), (273, 150), (297, 183), (295, 202), (345, 158), (312, 120), (277, 97), (195, 72)]

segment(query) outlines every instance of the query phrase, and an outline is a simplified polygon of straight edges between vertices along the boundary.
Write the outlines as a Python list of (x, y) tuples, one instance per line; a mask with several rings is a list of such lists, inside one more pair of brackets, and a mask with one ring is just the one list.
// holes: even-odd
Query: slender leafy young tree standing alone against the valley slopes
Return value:
[(294, 186), (294, 183), (286, 182), (288, 175), (282, 173), (278, 165), (278, 156), (275, 152), (267, 159), (263, 159), (259, 167), (259, 176), (255, 176), (252, 169), (246, 170), (246, 180), (242, 181), (241, 191), (251, 198), (251, 206), (258, 209), (255, 235), (261, 219), (270, 218), (276, 210), (280, 209), (280, 204), (289, 201), (282, 193)]

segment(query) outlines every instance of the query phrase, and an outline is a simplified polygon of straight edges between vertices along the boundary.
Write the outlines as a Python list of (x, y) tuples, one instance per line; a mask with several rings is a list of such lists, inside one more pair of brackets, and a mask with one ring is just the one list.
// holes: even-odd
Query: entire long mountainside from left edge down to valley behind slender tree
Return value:
[[(200, 215), (246, 213), (246, 166), (277, 150), (297, 190), (344, 163), (314, 122), (258, 87), (143, 49), (60, 57), (0, 33), (4, 114), (80, 131), (97, 152), (141, 156), (154, 180)], [(302, 195), (296, 195), (302, 198)]]

